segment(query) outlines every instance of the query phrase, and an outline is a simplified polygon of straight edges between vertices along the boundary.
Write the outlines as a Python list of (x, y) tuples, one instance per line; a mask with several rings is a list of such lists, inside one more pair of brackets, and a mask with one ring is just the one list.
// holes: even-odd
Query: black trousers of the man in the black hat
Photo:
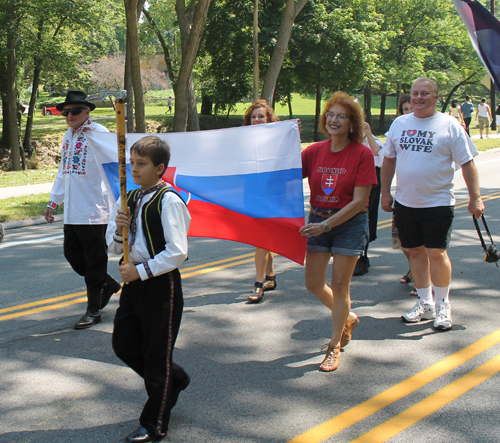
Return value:
[(101, 309), (101, 293), (108, 276), (108, 225), (64, 225), (64, 256), (74, 271), (85, 277), (87, 309)]

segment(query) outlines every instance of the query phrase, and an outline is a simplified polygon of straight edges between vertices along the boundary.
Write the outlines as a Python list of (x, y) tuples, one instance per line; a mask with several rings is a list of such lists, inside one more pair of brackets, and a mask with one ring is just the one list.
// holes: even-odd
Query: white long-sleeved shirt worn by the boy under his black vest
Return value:
[[(147, 194), (142, 199), (142, 204), (137, 216), (135, 242), (130, 248), (129, 260), (136, 265), (141, 280), (148, 279), (148, 274), (142, 263), (147, 262), (153, 276), (156, 277), (177, 269), (186, 261), (188, 254), (187, 233), (191, 222), (191, 215), (186, 205), (176, 194), (173, 192), (166, 192), (163, 196), (161, 209), (161, 224), (165, 237), (165, 250), (159, 252), (154, 257), (149, 255), (142, 223), (142, 208), (154, 195), (154, 193)], [(123, 254), (123, 239), (115, 235), (115, 220), (120, 207), (121, 203), (118, 200), (111, 212), (106, 231), (106, 242), (109, 251), (117, 255)]]

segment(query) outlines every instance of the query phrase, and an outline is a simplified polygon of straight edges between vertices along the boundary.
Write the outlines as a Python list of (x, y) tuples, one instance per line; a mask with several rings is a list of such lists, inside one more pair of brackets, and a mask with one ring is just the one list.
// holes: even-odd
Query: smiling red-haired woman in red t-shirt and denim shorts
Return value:
[[(320, 130), (330, 137), (302, 152), (302, 175), (309, 180), (306, 288), (332, 311), (332, 338), (322, 371), (334, 371), (340, 349), (359, 323), (350, 312), (351, 277), (368, 241), (368, 196), (377, 184), (373, 153), (363, 145), (363, 113), (345, 92), (333, 94), (321, 115)], [(333, 255), (331, 286), (325, 284)]]

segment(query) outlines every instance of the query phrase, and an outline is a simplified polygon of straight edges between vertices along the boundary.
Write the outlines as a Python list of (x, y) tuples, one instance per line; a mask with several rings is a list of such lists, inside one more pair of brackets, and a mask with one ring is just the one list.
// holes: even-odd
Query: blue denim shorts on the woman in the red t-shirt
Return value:
[[(320, 208), (321, 209), (321, 208)], [(335, 214), (340, 209), (332, 210)], [(309, 212), (309, 223), (321, 223), (323, 219)], [(368, 243), (368, 213), (360, 212), (351, 219), (335, 226), (329, 232), (307, 237), (310, 252), (330, 252), (338, 255), (362, 255)]]

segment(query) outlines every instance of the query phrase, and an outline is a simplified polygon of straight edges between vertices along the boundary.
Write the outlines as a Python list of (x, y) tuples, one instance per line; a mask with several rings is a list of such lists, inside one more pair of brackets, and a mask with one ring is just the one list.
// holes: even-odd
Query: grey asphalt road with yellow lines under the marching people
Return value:
[[(500, 152), (477, 164), (500, 243)], [(318, 371), (330, 316), (304, 289), (301, 266), (277, 257), (277, 289), (248, 305), (253, 248), (190, 239), (174, 358), (192, 382), (163, 441), (499, 442), (500, 269), (483, 261), (460, 175), (449, 250), (453, 329), (401, 322), (416, 298), (398, 282), (406, 263), (381, 212), (370, 272), (353, 278), (361, 322), (334, 373)], [(118, 278), (116, 257), (109, 269)], [(0, 443), (119, 442), (137, 426), (142, 381), (111, 349), (118, 297), (102, 323), (76, 331), (83, 291), (62, 254), (62, 223), (8, 231), (0, 244)]]

